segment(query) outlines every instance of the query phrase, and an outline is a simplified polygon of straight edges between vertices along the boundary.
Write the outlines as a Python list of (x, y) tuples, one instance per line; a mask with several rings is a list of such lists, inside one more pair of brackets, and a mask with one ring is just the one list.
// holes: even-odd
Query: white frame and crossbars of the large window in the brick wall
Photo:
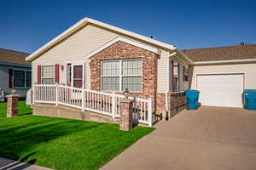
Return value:
[[(115, 75), (115, 76), (102, 76), (102, 62), (103, 61), (119, 61), (119, 75)], [(141, 75), (122, 75), (122, 62), (123, 61), (131, 61), (131, 60), (141, 60), (142, 62), (142, 73)], [(102, 60), (101, 61), (101, 90), (102, 90), (102, 77), (119, 77), (119, 90), (118, 91), (114, 91), (114, 90), (106, 90), (108, 92), (122, 92), (122, 80), (123, 77), (142, 77), (142, 84), (141, 84), (141, 90), (140, 91), (130, 91), (133, 93), (142, 93), (143, 92), (143, 59), (106, 59), (106, 60)], [(103, 91), (103, 90), (102, 90)]]

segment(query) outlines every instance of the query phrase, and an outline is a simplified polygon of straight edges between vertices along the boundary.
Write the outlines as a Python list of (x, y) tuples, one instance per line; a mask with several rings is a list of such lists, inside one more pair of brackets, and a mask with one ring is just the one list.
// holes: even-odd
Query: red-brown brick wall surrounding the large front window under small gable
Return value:
[(103, 49), (90, 59), (90, 88), (101, 90), (101, 61), (110, 59), (142, 59), (143, 87), (141, 93), (131, 93), (131, 96), (153, 98), (156, 95), (157, 82), (157, 54), (143, 48), (137, 48), (126, 42), (116, 42)]

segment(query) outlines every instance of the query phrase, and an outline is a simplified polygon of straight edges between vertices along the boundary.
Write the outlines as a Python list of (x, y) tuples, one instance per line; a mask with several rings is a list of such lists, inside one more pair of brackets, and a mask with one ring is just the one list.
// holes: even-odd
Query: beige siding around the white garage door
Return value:
[[(193, 69), (191, 69), (193, 71)], [(196, 75), (198, 74), (245, 74), (245, 88), (256, 88), (255, 79), (256, 63), (254, 64), (236, 64), (236, 65), (201, 65), (195, 66), (192, 73), (191, 88), (196, 89)]]

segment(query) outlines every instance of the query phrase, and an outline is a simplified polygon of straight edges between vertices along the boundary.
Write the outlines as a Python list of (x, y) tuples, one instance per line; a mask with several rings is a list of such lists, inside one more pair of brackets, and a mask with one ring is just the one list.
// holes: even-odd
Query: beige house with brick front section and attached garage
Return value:
[[(171, 44), (84, 18), (30, 54), (26, 60), (32, 62), (32, 83), (59, 83), (115, 93), (128, 88), (131, 96), (153, 99), (156, 113), (165, 113), (177, 108), (176, 104), (184, 104), (184, 100), (179, 98), (183, 94), (177, 92), (185, 88), (201, 90), (202, 105), (213, 105), (202, 100), (214, 97), (226, 100), (219, 102), (219, 106), (241, 107), (241, 103), (233, 105), (232, 102), (236, 98), (241, 99), (243, 88), (255, 88), (253, 71), (256, 71), (256, 55), (246, 55), (247, 49), (230, 50), (227, 55), (222, 52), (193, 54), (198, 50), (181, 51)], [(234, 55), (230, 56), (230, 53)], [(229, 81), (233, 81), (231, 84), (234, 83), (235, 88), (230, 88)], [(242, 86), (241, 81), (245, 82)], [(221, 89), (222, 92), (219, 91)], [(227, 95), (229, 91), (237, 93)], [(63, 95), (63, 99), (72, 98), (71, 94)]]

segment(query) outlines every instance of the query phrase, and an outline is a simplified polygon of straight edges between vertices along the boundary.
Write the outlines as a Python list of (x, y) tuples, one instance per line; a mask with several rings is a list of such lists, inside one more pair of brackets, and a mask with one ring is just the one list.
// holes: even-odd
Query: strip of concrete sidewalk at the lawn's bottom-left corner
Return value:
[(14, 161), (0, 157), (0, 170), (52, 170), (48, 167), (40, 167), (25, 162)]

